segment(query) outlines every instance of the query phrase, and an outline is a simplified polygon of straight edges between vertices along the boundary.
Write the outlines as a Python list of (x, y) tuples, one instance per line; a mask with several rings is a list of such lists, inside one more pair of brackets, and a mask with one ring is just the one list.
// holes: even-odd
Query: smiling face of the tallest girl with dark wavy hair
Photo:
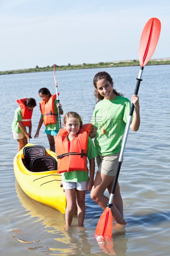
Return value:
[(110, 83), (106, 78), (102, 78), (96, 83), (97, 91), (105, 100), (111, 100), (115, 97), (113, 92), (113, 82)]

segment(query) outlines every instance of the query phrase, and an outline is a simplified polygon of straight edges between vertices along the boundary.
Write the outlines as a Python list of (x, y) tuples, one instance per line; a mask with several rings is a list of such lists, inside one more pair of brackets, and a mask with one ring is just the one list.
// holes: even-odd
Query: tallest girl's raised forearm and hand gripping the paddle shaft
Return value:
[(133, 117), (133, 120), (130, 124), (130, 128), (132, 131), (137, 132), (140, 126), (140, 111), (139, 111), (139, 97), (137, 95), (132, 95), (131, 102), (135, 106), (135, 115)]

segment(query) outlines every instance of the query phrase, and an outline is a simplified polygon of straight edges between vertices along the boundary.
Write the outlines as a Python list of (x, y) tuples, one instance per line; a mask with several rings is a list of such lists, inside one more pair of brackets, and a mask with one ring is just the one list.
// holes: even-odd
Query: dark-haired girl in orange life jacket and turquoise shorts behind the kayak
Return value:
[(60, 114), (63, 115), (62, 105), (57, 103), (56, 94), (51, 95), (47, 88), (41, 88), (39, 91), (39, 96), (41, 97), (40, 110), (41, 118), (38, 124), (37, 132), (35, 133), (34, 139), (38, 138), (40, 128), (44, 122), (47, 133), (47, 138), (50, 145), (50, 150), (55, 152), (55, 138), (60, 129), (59, 118), (58, 118), (58, 108)]

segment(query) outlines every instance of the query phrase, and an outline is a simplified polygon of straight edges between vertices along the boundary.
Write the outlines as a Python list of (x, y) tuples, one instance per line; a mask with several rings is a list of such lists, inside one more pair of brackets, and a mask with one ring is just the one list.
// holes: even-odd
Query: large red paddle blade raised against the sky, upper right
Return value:
[(157, 46), (160, 35), (161, 23), (157, 18), (151, 18), (145, 24), (139, 44), (139, 62), (144, 67), (151, 59)]

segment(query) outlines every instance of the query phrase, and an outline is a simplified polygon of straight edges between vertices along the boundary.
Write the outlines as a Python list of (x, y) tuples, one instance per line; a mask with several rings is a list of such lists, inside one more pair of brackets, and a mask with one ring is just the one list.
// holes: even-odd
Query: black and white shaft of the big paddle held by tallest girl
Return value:
[[(138, 78), (137, 78), (137, 84), (136, 84), (136, 88), (135, 88), (135, 92), (134, 92), (134, 94), (136, 94), (136, 95), (138, 94), (140, 82), (142, 81), (141, 78), (142, 78), (143, 70), (144, 70), (144, 67), (140, 67)], [(118, 177), (119, 177), (119, 172), (120, 172), (120, 169), (121, 169), (121, 164), (122, 164), (122, 161), (123, 161), (123, 153), (124, 153), (124, 149), (125, 149), (125, 146), (126, 146), (126, 141), (127, 141), (127, 138), (128, 138), (128, 133), (129, 133), (129, 128), (130, 128), (130, 124), (131, 124), (131, 120), (132, 120), (132, 116), (133, 116), (134, 107), (135, 106), (132, 103), (130, 113), (129, 113), (129, 119), (128, 119), (128, 122), (126, 124), (126, 129), (125, 129), (125, 133), (124, 133), (124, 137), (123, 137), (122, 148), (121, 148), (119, 161), (118, 161), (117, 169), (116, 169), (116, 173), (115, 173), (115, 179), (114, 179), (114, 182), (113, 182), (109, 202), (107, 204), (109, 208), (113, 205), (112, 204), (113, 197), (114, 197), (114, 193), (115, 193), (117, 180), (118, 180)]]

